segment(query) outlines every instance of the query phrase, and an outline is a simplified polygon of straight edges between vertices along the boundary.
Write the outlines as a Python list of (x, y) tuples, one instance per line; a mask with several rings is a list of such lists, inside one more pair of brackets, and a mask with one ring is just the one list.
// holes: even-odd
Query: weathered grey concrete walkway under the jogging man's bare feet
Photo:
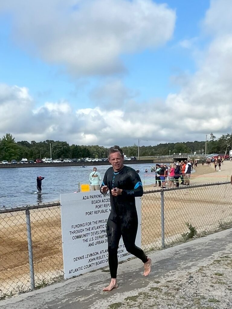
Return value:
[(153, 260), (153, 268), (152, 273), (146, 278), (142, 276), (143, 268), (140, 260), (132, 259), (122, 263), (118, 268), (119, 287), (112, 292), (101, 291), (110, 281), (109, 272), (97, 270), (41, 290), (0, 301), (0, 308), (117, 308), (117, 305), (111, 304), (123, 304), (128, 296), (144, 293), (152, 282), (158, 280), (170, 282), (170, 279), (180, 274), (186, 275), (199, 267), (211, 264), (219, 256), (231, 254), (231, 239), (232, 229), (228, 229), (162, 251), (151, 252), (149, 256)]

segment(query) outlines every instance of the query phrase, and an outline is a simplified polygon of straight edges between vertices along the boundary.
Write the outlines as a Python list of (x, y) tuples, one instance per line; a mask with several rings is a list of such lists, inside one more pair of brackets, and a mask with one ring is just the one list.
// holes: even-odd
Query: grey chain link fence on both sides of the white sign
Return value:
[[(232, 222), (231, 184), (144, 192), (142, 248), (165, 248)], [(0, 209), (0, 299), (63, 278), (60, 204)]]

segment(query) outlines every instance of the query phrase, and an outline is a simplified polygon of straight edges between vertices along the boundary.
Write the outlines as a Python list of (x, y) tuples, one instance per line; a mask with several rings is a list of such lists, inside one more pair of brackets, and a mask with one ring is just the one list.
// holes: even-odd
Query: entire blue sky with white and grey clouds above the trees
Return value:
[(129, 146), (230, 133), (231, 16), (231, 0), (0, 2), (0, 137)]

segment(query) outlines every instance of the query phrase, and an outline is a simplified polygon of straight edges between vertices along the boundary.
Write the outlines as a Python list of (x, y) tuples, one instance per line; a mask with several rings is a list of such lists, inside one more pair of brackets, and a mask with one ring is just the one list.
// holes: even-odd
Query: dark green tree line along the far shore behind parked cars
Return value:
[[(52, 150), (52, 159), (64, 158), (105, 158), (107, 157), (108, 148), (98, 145), (71, 146), (67, 142), (46, 140), (43, 142), (21, 141), (15, 142), (15, 138), (6, 133), (0, 138), (0, 161), (2, 160), (28, 160), (50, 158), (50, 144)], [(210, 139), (207, 141), (207, 153), (228, 153), (231, 149), (231, 134), (221, 135), (215, 139), (213, 133), (210, 134)], [(138, 145), (122, 147), (124, 154), (128, 157), (138, 156)], [(178, 143), (163, 143), (156, 146), (140, 146), (140, 156), (158, 156), (169, 155), (173, 153), (205, 153), (205, 141), (203, 142), (178, 142)]]

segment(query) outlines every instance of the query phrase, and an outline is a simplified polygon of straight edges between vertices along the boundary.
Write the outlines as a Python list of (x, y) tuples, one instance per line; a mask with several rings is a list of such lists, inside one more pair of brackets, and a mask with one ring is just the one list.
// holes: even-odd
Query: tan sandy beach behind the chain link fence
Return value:
[[(191, 175), (191, 184), (206, 184), (230, 180), (232, 163), (224, 162), (221, 172), (214, 167), (201, 166)], [(144, 191), (154, 190), (153, 185)], [(197, 233), (214, 231), (232, 222), (231, 184), (186, 188), (164, 192), (165, 245), (181, 239), (191, 223)], [(36, 284), (54, 281), (62, 275), (62, 239), (59, 207), (31, 211), (32, 243)], [(25, 212), (0, 215), (0, 286), (2, 292), (28, 290), (29, 265)], [(161, 248), (160, 192), (142, 197), (142, 247)], [(183, 240), (183, 239), (182, 239)]]

